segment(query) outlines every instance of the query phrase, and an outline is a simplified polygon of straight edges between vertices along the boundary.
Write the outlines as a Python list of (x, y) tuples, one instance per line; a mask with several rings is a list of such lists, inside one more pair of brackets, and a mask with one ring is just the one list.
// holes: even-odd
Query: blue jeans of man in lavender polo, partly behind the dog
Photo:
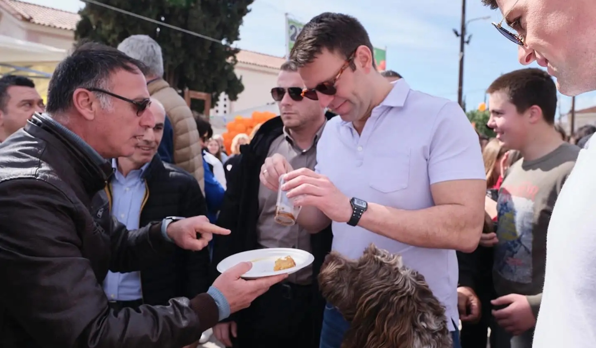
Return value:
[[(455, 331), (451, 332), (453, 337), (453, 348), (461, 348), (460, 330), (455, 325)], [(331, 304), (327, 303), (323, 314), (323, 328), (321, 329), (321, 343), (319, 348), (339, 348), (342, 345), (343, 335), (350, 328), (350, 323), (343, 319), (342, 314)]]

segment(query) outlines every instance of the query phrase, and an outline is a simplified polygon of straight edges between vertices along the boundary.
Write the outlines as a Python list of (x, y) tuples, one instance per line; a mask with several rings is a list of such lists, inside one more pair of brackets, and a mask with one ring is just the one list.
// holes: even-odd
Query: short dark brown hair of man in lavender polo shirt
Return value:
[[(373, 67), (376, 67), (373, 45), (360, 21), (347, 14), (325, 12), (302, 28), (290, 52), (290, 60), (302, 67), (312, 63), (323, 49), (347, 59), (362, 45), (371, 51)], [(356, 69), (353, 63), (351, 67)]]

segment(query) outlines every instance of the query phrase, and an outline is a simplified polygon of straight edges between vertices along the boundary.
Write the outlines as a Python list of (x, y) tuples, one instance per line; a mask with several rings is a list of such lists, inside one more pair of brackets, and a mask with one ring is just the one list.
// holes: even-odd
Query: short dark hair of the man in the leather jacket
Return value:
[(49, 81), (48, 113), (66, 112), (73, 105), (77, 88), (109, 88), (110, 76), (118, 70), (144, 74), (143, 63), (125, 53), (96, 42), (85, 42), (75, 48), (54, 70)]

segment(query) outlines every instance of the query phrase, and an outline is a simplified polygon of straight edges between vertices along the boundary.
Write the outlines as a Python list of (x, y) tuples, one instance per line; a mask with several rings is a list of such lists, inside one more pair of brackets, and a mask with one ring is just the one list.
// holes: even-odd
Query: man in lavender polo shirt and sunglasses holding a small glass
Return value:
[[(286, 175), (282, 187), (302, 206), (299, 224), (316, 233), (331, 223), (333, 250), (358, 258), (374, 243), (402, 255), (446, 307), (459, 347), (455, 250), (476, 249), (486, 180), (480, 144), (457, 103), (393, 83), (375, 67), (362, 24), (344, 14), (316, 16), (290, 59), (303, 95), (337, 112), (317, 145), (315, 171)], [(272, 156), (262, 181), (277, 190), (288, 168)], [(321, 348), (339, 348), (350, 324), (327, 307)]]

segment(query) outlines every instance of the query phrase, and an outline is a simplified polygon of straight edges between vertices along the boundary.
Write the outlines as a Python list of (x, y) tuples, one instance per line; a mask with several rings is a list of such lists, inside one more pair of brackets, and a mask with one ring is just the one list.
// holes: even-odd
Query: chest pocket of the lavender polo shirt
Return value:
[(408, 188), (410, 172), (409, 151), (373, 155), (368, 184), (381, 193), (392, 193)]

